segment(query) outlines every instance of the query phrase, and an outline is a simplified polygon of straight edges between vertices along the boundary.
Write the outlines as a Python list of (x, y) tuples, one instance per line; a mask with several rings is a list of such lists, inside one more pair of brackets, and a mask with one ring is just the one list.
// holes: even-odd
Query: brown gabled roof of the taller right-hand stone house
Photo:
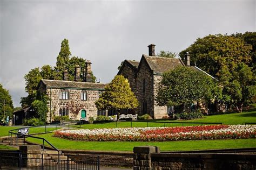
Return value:
[(179, 58), (164, 58), (159, 56), (142, 55), (152, 70), (153, 74), (161, 75), (167, 70), (173, 69), (177, 66), (185, 66)]

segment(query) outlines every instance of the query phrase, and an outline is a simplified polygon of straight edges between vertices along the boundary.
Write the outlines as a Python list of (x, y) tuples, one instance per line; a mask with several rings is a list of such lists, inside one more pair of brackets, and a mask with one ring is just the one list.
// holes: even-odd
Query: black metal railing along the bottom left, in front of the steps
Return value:
[[(49, 156), (50, 155), (50, 156)], [(0, 169), (92, 169), (99, 170), (99, 156), (92, 155), (90, 160), (81, 160), (72, 155), (0, 152)]]

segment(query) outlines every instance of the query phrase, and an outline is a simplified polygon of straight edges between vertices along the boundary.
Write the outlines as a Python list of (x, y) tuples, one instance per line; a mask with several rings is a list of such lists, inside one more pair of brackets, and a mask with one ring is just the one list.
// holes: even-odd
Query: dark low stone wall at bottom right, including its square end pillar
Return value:
[(255, 169), (256, 154), (160, 153), (158, 147), (134, 147), (133, 169)]

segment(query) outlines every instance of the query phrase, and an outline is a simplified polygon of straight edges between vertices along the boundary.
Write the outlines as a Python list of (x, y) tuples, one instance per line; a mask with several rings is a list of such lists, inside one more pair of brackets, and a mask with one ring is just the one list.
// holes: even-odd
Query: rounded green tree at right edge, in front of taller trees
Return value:
[(233, 105), (238, 112), (242, 112), (244, 105), (252, 103), (256, 95), (255, 74), (245, 63), (239, 63), (230, 73), (228, 69), (221, 69), (220, 82), (223, 86), (224, 101)]

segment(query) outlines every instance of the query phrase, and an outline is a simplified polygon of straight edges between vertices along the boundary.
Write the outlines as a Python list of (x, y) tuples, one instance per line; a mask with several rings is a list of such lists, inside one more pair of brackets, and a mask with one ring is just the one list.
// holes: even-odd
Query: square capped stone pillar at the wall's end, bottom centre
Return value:
[(159, 153), (157, 146), (140, 146), (133, 148), (133, 169), (151, 170), (151, 153)]

